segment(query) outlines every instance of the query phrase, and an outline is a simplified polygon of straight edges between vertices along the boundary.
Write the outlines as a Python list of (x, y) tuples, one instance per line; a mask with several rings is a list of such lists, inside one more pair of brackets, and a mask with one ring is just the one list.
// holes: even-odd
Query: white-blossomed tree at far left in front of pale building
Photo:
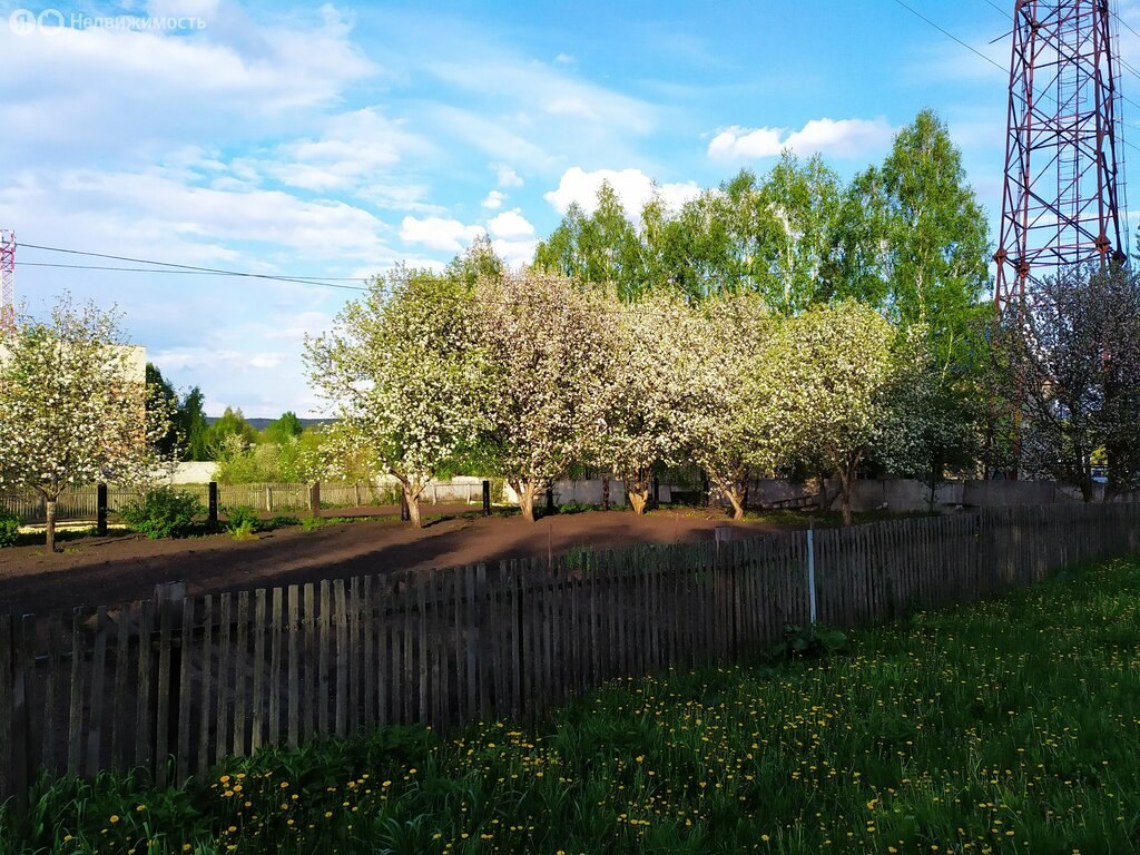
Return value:
[(114, 312), (64, 296), (50, 320), (0, 339), (0, 488), (32, 490), (55, 551), (56, 502), (97, 482), (146, 483), (164, 458), (169, 408), (149, 397)]

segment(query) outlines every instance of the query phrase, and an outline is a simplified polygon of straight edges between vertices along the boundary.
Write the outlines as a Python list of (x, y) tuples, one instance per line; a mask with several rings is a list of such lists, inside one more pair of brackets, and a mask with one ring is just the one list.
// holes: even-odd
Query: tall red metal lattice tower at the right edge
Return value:
[(1016, 0), (999, 319), (1059, 268), (1125, 258), (1116, 33), (1108, 0)]

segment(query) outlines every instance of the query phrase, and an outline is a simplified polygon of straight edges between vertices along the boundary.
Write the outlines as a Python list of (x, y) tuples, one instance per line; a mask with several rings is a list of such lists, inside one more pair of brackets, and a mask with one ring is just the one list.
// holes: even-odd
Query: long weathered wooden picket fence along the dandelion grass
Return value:
[(606, 679), (732, 659), (1140, 551), (1140, 505), (575, 552), (0, 616), (0, 799), (41, 771), (141, 767), (386, 723), (531, 719)]

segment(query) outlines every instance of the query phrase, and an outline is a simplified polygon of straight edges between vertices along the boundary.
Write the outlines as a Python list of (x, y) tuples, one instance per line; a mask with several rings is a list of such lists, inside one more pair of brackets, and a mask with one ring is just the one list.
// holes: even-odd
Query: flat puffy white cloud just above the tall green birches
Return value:
[(788, 148), (799, 155), (862, 157), (890, 145), (895, 129), (886, 119), (813, 119), (798, 131), (784, 128), (748, 129), (733, 125), (709, 142), (709, 157), (718, 161), (775, 157)]

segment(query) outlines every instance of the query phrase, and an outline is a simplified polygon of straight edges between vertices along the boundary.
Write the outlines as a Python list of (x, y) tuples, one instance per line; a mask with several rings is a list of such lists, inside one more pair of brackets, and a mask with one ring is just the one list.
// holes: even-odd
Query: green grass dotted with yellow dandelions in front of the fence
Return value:
[(0, 852), (1133, 853), (1138, 699), (1140, 561), (1114, 561), (828, 660), (621, 681), (535, 730), (46, 784)]

